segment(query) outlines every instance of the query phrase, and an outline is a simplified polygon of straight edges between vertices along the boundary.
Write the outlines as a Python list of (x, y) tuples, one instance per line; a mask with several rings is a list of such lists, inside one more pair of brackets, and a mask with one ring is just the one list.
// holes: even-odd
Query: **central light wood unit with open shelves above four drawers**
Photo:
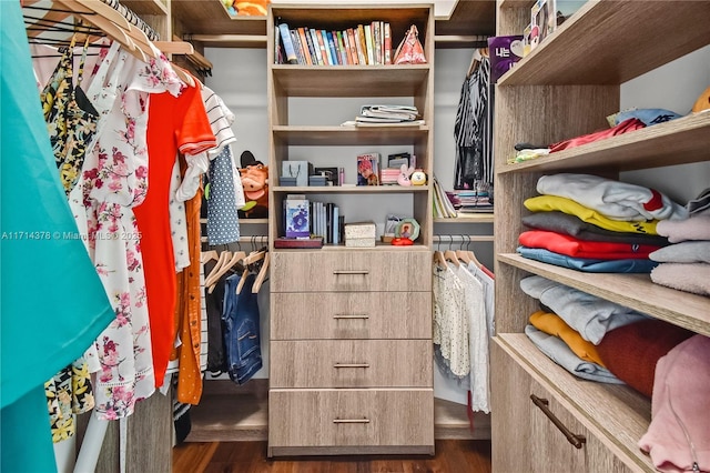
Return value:
[[(281, 187), (282, 162), (313, 147), (408, 147), (427, 173), (433, 160), (434, 14), (432, 4), (272, 4), (290, 28), (344, 30), (388, 21), (393, 44), (416, 24), (428, 63), (416, 66), (295, 66), (274, 63), (270, 36), (271, 333), (268, 455), (434, 453), (432, 364), (432, 187)], [(343, 98), (402, 98), (424, 125), (346, 128), (295, 124), (290, 104)], [(354, 118), (354, 117), (353, 117)], [(317, 120), (317, 115), (316, 115)], [(323, 119), (322, 119), (323, 120)], [(365, 151), (363, 151), (365, 152)], [(336, 152), (349, 167), (356, 152)], [(339, 154), (339, 157), (338, 157)], [(294, 158), (292, 158), (294, 159)], [(347, 217), (372, 199), (404, 195), (420, 225), (414, 246), (325, 245), (280, 250), (283, 200), (290, 193), (327, 202)], [(346, 220), (347, 223), (347, 220)], [(402, 361), (406, 360), (406, 363)]]

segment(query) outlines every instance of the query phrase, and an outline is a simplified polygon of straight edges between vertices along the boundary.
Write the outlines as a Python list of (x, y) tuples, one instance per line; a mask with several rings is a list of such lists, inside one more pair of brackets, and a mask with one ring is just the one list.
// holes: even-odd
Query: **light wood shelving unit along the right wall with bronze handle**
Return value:
[[(518, 34), (532, 1), (498, 2), (497, 34)], [(671, 7), (671, 8), (669, 8)], [(653, 284), (646, 274), (590, 274), (516, 254), (525, 230), (523, 201), (544, 173), (618, 178), (620, 171), (710, 160), (710, 114), (657, 124), (508, 164), (517, 142), (552, 143), (605, 128), (618, 111), (620, 84), (710, 42), (708, 1), (589, 1), (496, 88), (496, 328), (491, 348), (493, 469), (496, 472), (653, 471), (638, 441), (648, 430), (650, 400), (623, 385), (581, 381), (547, 359), (525, 336), (538, 302), (519, 288), (539, 274), (651, 316), (710, 334), (710, 300)], [(648, 42), (663, 31), (662, 41)], [(536, 405), (570, 434), (580, 449)]]

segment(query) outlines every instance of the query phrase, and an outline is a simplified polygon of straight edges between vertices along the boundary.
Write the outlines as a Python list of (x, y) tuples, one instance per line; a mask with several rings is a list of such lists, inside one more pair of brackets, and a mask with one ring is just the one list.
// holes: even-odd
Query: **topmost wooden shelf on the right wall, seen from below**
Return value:
[(620, 84), (706, 46), (708, 18), (707, 1), (589, 1), (498, 87)]

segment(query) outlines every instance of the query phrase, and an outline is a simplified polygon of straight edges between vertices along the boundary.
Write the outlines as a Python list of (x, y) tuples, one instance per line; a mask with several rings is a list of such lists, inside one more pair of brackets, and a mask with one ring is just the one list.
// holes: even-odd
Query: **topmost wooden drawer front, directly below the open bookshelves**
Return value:
[(272, 292), (430, 291), (428, 251), (275, 251)]

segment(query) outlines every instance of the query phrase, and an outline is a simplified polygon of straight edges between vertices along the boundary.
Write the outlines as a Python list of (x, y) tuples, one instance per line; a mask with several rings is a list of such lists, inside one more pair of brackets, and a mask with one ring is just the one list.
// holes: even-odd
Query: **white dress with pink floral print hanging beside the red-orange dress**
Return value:
[[(160, 54), (159, 51), (156, 51)], [(145, 278), (133, 208), (148, 190), (148, 102), (184, 84), (164, 56), (144, 63), (116, 44), (99, 66), (87, 95), (102, 114), (80, 185), (70, 195), (80, 231), (115, 311), (94, 343), (94, 413), (125, 417), (155, 390)]]

